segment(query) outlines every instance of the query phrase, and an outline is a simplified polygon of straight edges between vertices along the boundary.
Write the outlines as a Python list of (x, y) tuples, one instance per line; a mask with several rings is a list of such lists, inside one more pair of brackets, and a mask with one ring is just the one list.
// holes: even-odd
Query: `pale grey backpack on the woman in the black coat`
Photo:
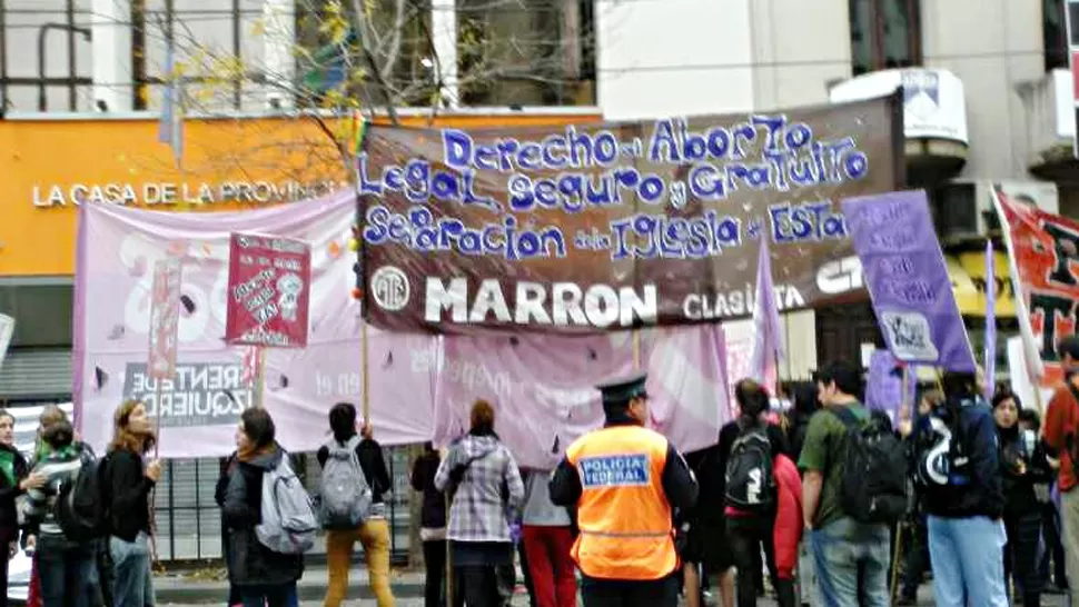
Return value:
[(255, 536), (275, 553), (301, 555), (315, 546), (317, 530), (311, 498), (283, 454), (277, 467), (263, 476), (263, 521)]

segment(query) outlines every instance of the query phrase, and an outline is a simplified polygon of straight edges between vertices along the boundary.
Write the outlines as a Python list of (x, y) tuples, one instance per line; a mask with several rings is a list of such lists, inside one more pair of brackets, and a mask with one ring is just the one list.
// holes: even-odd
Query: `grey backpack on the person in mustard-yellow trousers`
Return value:
[(372, 490), (356, 456), (359, 437), (326, 444), (319, 518), (326, 529), (355, 529), (370, 516)]

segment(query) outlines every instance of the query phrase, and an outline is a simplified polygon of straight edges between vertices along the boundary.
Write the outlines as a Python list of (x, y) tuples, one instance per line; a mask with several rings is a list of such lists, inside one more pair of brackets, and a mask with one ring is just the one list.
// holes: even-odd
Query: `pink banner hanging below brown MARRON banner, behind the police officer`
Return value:
[[(595, 385), (633, 366), (632, 335), (625, 331), (582, 338), (452, 336), (443, 344), (436, 441), (466, 431), (469, 407), (484, 398), (497, 405), (495, 429), (518, 464), (538, 469), (554, 468), (574, 439), (603, 422)], [(642, 331), (651, 427), (682, 451), (714, 445), (731, 419), (722, 357), (719, 325)]]

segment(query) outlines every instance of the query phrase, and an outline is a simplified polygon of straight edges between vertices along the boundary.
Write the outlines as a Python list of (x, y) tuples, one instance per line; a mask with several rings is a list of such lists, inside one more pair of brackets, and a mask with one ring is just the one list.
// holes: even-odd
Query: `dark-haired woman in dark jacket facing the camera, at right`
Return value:
[(1046, 452), (1032, 430), (1019, 425), (1019, 397), (1000, 392), (993, 397), (993, 418), (999, 437), (1000, 467), (1004, 486), (1004, 579), (1014, 574), (1022, 588), (1024, 607), (1041, 605), (1038, 543), (1041, 537), (1041, 502), (1037, 485), (1052, 477)]

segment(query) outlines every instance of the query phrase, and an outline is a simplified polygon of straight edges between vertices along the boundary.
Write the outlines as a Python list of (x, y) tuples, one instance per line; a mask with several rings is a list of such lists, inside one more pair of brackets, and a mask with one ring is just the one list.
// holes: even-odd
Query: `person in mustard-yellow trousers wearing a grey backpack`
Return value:
[(382, 446), (364, 427), (356, 434), (356, 407), (338, 402), (329, 410), (334, 438), (317, 454), (323, 467), (320, 518), (326, 531), (329, 583), (326, 607), (339, 607), (348, 588), (353, 546), (364, 546), (370, 588), (378, 607), (393, 607), (389, 585), (389, 521), (383, 496), (393, 488)]

